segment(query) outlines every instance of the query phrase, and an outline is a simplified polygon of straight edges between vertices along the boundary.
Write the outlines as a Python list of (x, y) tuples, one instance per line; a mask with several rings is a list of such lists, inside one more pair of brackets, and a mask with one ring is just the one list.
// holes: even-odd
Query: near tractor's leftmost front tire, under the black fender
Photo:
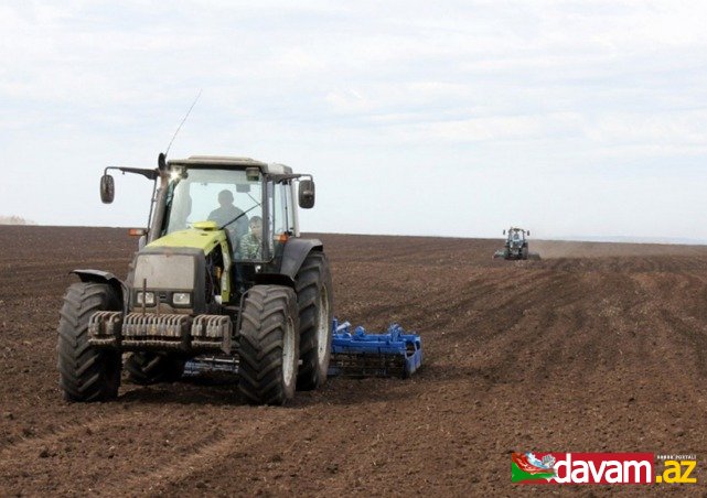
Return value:
[(67, 401), (106, 401), (118, 396), (120, 353), (88, 344), (88, 320), (99, 311), (120, 311), (120, 299), (106, 283), (72, 284), (58, 321), (58, 385)]

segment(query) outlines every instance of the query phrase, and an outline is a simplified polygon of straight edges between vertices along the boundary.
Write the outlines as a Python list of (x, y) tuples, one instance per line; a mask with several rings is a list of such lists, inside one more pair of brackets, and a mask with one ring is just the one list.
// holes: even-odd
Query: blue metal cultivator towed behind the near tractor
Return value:
[(363, 327), (351, 333), (351, 324), (332, 325), (330, 376), (400, 377), (411, 376), (422, 365), (422, 340), (393, 324), (385, 334), (368, 334)]

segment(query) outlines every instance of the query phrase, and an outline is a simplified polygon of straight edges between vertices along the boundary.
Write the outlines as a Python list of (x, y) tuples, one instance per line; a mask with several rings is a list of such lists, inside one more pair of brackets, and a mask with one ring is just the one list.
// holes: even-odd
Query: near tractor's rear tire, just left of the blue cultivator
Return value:
[(300, 316), (300, 359), (297, 388), (318, 389), (326, 382), (331, 357), (333, 291), (329, 261), (311, 252), (294, 278)]

